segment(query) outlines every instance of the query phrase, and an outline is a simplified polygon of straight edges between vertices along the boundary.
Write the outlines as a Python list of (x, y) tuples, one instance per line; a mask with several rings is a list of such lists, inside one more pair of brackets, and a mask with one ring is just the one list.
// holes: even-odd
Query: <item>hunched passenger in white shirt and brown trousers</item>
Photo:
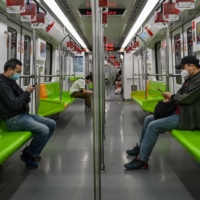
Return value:
[(85, 112), (91, 112), (91, 94), (90, 90), (86, 90), (86, 83), (92, 82), (92, 75), (88, 75), (85, 78), (76, 80), (70, 88), (70, 96), (75, 98), (85, 99)]

